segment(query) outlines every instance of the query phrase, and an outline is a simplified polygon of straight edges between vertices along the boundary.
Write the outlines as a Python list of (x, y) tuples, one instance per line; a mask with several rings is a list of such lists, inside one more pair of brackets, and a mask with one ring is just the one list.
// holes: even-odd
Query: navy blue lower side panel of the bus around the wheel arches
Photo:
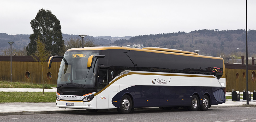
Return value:
[[(203, 95), (208, 95), (211, 105), (225, 103), (225, 87), (189, 87), (189, 86), (143, 86), (136, 85), (120, 91), (112, 99), (121, 100), (124, 94), (129, 94), (133, 99), (134, 108), (138, 107), (165, 107), (189, 106), (192, 95), (198, 95), (200, 104)], [(118, 102), (112, 103), (120, 107)]]

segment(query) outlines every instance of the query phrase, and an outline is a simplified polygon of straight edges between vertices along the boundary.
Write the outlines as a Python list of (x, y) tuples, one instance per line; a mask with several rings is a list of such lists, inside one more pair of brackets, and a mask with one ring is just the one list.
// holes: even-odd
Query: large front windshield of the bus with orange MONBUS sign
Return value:
[(59, 68), (57, 87), (65, 84), (79, 84), (86, 88), (94, 87), (96, 71), (93, 69), (97, 66), (96, 60), (93, 60), (91, 69), (87, 69), (87, 60), (89, 56), (98, 54), (98, 51), (91, 50), (67, 51)]

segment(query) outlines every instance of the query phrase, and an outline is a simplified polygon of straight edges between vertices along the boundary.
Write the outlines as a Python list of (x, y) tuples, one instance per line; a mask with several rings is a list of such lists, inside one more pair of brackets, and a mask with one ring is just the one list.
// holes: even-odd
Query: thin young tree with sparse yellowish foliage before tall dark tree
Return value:
[(37, 50), (35, 51), (35, 53), (32, 55), (32, 58), (37, 61), (38, 63), (40, 63), (41, 68), (42, 68), (42, 81), (43, 81), (43, 94), (44, 94), (44, 74), (43, 74), (43, 65), (46, 64), (46, 60), (48, 59), (48, 57), (50, 56), (50, 52), (46, 51), (45, 49), (45, 44), (39, 40), (39, 37), (36, 40), (37, 42)]

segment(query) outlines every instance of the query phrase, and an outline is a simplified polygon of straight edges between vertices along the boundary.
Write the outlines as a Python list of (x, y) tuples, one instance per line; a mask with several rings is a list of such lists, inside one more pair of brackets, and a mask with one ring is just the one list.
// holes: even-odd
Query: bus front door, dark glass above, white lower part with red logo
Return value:
[(108, 68), (99, 67), (97, 76), (97, 105), (96, 109), (108, 109), (109, 101)]

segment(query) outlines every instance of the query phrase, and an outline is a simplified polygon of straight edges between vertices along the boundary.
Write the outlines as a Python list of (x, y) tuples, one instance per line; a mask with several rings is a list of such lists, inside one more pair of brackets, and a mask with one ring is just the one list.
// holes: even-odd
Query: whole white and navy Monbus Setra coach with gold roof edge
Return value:
[(225, 103), (222, 58), (157, 48), (72, 48), (61, 58), (56, 106), (60, 108), (117, 109), (159, 107), (207, 110)]

